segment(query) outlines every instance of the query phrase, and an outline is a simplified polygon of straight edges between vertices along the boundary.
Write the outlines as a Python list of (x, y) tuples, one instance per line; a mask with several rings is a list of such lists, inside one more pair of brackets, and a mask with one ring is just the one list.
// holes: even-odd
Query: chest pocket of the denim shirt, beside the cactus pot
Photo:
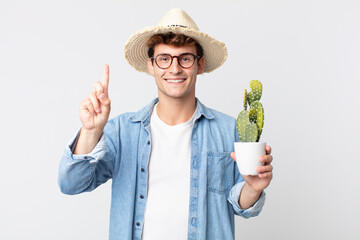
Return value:
[(207, 188), (225, 194), (234, 181), (234, 160), (230, 152), (207, 152)]

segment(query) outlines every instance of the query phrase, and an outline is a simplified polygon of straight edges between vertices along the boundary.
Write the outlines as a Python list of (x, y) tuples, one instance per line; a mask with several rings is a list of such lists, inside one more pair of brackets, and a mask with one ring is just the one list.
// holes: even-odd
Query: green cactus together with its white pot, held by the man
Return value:
[(259, 157), (265, 154), (266, 145), (265, 142), (259, 142), (264, 126), (264, 108), (260, 103), (262, 84), (252, 80), (250, 89), (250, 92), (244, 90), (244, 110), (236, 120), (241, 142), (234, 143), (234, 148), (237, 166), (242, 175), (258, 175), (256, 168), (263, 165)]

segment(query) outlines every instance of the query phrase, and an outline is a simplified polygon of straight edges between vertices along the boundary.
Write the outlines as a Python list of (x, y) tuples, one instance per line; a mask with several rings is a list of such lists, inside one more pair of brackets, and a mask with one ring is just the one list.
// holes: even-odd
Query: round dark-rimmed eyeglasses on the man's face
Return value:
[(177, 58), (180, 67), (182, 68), (191, 68), (195, 59), (200, 58), (199, 56), (195, 56), (192, 53), (183, 53), (179, 56), (171, 56), (170, 54), (159, 54), (156, 57), (152, 57), (151, 60), (155, 60), (156, 65), (161, 69), (167, 69), (171, 66), (173, 62), (173, 58)]

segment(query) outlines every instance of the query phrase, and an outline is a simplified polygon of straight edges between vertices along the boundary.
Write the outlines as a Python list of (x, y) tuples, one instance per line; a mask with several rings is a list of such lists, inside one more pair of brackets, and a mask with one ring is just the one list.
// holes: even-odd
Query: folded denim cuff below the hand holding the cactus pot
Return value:
[(233, 206), (236, 215), (242, 216), (244, 218), (258, 216), (264, 206), (266, 194), (264, 191), (262, 191), (262, 193), (261, 193), (259, 199), (256, 201), (256, 203), (252, 207), (244, 210), (239, 205), (239, 197), (240, 197), (241, 190), (244, 187), (244, 184), (245, 184), (245, 181), (242, 181), (232, 187), (232, 189), (230, 190), (228, 201)]

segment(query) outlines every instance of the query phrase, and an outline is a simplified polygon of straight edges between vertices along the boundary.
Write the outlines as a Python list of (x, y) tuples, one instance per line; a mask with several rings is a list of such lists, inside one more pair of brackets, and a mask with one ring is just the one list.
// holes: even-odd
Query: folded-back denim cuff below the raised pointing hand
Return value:
[(74, 159), (75, 161), (83, 161), (87, 160), (89, 163), (94, 164), (97, 163), (100, 159), (102, 159), (106, 153), (106, 139), (105, 134), (103, 133), (100, 137), (99, 142), (96, 144), (94, 149), (88, 154), (73, 154), (77, 141), (79, 140), (80, 130), (75, 134), (75, 136), (69, 141), (66, 145), (66, 153)]

